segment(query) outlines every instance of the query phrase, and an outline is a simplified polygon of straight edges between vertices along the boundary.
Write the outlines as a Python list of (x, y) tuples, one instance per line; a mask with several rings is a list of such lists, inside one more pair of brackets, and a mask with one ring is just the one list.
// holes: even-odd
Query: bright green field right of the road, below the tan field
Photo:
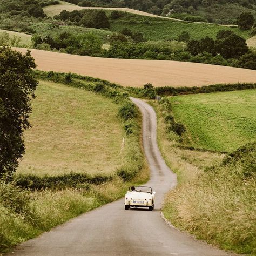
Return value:
[(184, 143), (188, 146), (230, 152), (256, 139), (256, 90), (170, 100), (174, 118), (187, 128)]

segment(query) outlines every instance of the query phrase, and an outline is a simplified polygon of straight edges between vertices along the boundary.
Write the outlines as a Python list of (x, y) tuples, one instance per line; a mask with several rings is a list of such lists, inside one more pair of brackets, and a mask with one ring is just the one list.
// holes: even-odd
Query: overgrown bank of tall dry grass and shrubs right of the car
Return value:
[(254, 255), (255, 159), (254, 142), (208, 167), (196, 179), (187, 180), (167, 195), (165, 216), (199, 239)]

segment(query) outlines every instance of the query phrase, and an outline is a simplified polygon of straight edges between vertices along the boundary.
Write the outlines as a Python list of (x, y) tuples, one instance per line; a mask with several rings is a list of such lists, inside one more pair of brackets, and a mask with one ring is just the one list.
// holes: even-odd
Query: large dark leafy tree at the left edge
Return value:
[(36, 68), (30, 52), (22, 55), (0, 48), (0, 177), (15, 172), (25, 151), (23, 132), (29, 124), (30, 100), (35, 98)]

